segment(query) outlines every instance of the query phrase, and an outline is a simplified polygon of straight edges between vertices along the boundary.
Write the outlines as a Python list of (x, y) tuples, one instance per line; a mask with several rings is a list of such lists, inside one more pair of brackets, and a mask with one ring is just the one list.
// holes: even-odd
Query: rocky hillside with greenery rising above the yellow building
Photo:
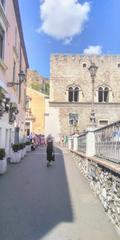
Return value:
[(27, 86), (33, 88), (36, 91), (49, 94), (49, 80), (41, 75), (37, 71), (28, 69), (27, 71)]

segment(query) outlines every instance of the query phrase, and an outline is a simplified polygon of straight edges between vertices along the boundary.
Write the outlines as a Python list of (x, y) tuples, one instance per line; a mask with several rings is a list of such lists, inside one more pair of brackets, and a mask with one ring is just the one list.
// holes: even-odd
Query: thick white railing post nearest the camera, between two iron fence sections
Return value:
[(86, 155), (92, 157), (95, 154), (95, 133), (93, 128), (89, 128), (86, 136)]

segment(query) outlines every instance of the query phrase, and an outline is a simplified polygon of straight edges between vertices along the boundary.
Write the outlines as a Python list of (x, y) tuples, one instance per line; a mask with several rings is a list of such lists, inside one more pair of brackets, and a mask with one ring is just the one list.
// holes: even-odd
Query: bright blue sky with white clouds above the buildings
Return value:
[(50, 55), (120, 54), (120, 0), (19, 0), (30, 68), (49, 78)]

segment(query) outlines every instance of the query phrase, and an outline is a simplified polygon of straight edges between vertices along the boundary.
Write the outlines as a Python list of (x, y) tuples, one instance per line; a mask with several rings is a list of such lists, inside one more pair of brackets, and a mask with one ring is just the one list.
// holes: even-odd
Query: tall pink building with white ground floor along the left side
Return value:
[[(18, 0), (0, 1), (0, 148), (24, 137), (28, 68)], [(23, 78), (22, 78), (23, 77)]]

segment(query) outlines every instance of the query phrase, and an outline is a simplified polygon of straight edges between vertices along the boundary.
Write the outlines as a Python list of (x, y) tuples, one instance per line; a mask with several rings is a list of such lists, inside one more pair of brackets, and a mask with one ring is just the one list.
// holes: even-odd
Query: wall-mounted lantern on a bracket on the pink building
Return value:
[(20, 72), (18, 73), (19, 76), (19, 81), (18, 82), (8, 82), (7, 86), (8, 87), (13, 87), (15, 85), (19, 85), (19, 103), (20, 103), (20, 97), (21, 97), (21, 84), (25, 81), (25, 73), (20, 70)]

